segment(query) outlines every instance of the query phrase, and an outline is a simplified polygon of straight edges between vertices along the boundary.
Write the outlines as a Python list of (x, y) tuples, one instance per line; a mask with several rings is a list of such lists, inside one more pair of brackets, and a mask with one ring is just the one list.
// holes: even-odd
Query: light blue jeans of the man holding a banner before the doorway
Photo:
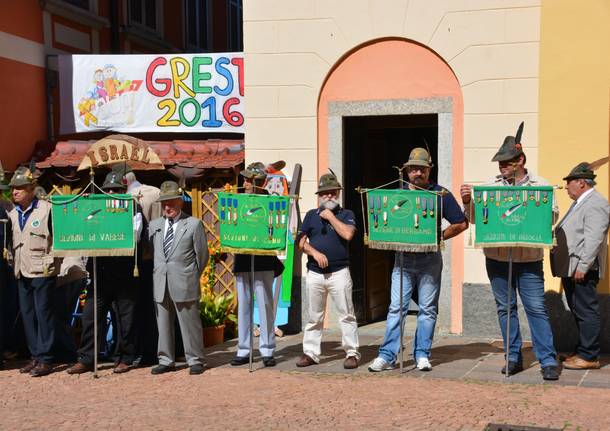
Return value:
[[(392, 271), (392, 299), (388, 310), (385, 336), (379, 347), (379, 357), (395, 363), (400, 349), (400, 261), (396, 253)], [(406, 316), (413, 288), (418, 292), (419, 313), (413, 341), (413, 357), (429, 358), (438, 313), (438, 296), (441, 290), (443, 258), (440, 252), (404, 253), (402, 314)], [(403, 318), (403, 325), (405, 319)]]

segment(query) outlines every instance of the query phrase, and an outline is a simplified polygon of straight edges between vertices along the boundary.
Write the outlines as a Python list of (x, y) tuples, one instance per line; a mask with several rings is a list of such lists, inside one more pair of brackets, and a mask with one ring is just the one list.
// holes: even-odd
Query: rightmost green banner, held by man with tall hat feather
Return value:
[(553, 187), (473, 188), (475, 247), (553, 246)]

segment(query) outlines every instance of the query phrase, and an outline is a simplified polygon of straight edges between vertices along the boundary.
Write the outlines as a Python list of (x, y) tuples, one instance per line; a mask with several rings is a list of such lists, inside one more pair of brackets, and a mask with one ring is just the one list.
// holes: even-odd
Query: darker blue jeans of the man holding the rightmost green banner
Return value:
[(557, 352), (553, 345), (553, 332), (549, 316), (544, 305), (544, 273), (542, 261), (513, 263), (513, 282), (510, 301), (510, 342), (506, 348), (506, 311), (508, 299), (508, 263), (486, 259), (487, 275), (496, 300), (498, 320), (504, 351), (508, 351), (508, 360), (521, 361), (521, 331), (517, 315), (517, 291), (527, 316), (532, 334), (534, 353), (541, 367), (557, 365)]

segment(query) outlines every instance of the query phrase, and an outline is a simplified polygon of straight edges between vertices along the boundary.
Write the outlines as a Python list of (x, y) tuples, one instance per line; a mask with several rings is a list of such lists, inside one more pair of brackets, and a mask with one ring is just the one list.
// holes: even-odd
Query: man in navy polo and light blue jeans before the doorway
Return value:
[[(448, 240), (466, 230), (468, 221), (451, 192), (430, 182), (432, 166), (432, 158), (424, 148), (415, 148), (411, 151), (409, 160), (405, 163), (410, 189), (444, 191), (438, 197), (437, 207), (442, 208), (442, 218), (450, 224), (445, 230), (442, 230), (441, 217), (439, 217), (437, 219), (439, 220), (437, 229), (438, 238)], [(402, 313), (403, 315), (407, 313), (411, 294), (414, 289), (417, 289), (419, 312), (417, 313), (417, 329), (413, 339), (413, 359), (417, 368), (421, 371), (432, 370), (430, 350), (438, 313), (442, 270), (443, 257), (440, 251), (404, 253)], [(385, 336), (379, 347), (379, 355), (369, 365), (369, 371), (372, 372), (391, 370), (396, 364), (401, 343), (400, 273), (400, 260), (397, 253), (392, 271), (392, 298), (388, 310)]]

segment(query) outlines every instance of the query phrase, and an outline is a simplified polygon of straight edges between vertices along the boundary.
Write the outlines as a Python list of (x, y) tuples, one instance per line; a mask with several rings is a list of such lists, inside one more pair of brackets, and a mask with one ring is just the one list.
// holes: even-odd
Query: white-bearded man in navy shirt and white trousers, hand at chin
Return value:
[(356, 221), (354, 213), (341, 208), (339, 204), (341, 189), (333, 173), (322, 175), (316, 192), (320, 207), (307, 212), (301, 227), (299, 247), (307, 254), (309, 319), (303, 334), (303, 355), (297, 361), (297, 367), (320, 362), (329, 294), (337, 309), (341, 327), (341, 344), (346, 354), (343, 368), (357, 368), (360, 360), (348, 255), (348, 243), (356, 232)]

